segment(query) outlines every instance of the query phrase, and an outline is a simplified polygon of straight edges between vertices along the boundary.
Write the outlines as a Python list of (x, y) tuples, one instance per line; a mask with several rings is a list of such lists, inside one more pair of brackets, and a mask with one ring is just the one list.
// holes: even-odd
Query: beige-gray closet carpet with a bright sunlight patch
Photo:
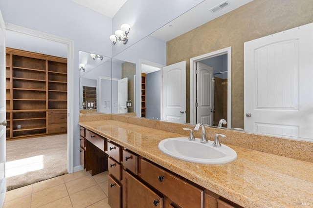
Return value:
[(8, 141), (7, 190), (67, 173), (67, 134)]

